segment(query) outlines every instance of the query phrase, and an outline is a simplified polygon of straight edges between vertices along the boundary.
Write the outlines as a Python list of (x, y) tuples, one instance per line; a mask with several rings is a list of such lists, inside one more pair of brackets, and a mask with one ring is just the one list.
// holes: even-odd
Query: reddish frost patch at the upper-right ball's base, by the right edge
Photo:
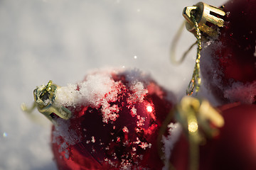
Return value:
[(229, 98), (231, 102), (253, 103), (255, 96), (256, 81), (247, 84), (235, 82), (229, 89), (224, 91), (224, 97)]

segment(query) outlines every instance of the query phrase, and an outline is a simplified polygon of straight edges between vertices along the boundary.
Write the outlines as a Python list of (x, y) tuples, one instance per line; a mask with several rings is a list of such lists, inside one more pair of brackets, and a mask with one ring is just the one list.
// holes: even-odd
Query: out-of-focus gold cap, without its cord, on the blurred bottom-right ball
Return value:
[[(188, 133), (193, 134), (198, 131), (198, 126), (201, 126), (201, 130), (209, 137), (215, 136), (216, 130), (224, 125), (223, 116), (209, 101), (192, 96), (184, 96), (176, 106), (176, 119)], [(211, 127), (211, 123), (216, 128)]]

